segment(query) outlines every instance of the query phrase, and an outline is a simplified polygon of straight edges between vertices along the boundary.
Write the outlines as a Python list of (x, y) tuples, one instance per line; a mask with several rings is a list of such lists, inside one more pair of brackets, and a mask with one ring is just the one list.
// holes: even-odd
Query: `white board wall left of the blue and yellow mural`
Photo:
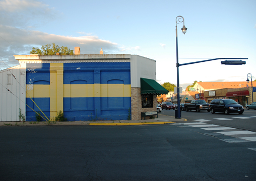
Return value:
[(0, 121), (19, 121), (19, 108), (26, 115), (26, 68), (17, 65), (0, 71), (0, 82)]

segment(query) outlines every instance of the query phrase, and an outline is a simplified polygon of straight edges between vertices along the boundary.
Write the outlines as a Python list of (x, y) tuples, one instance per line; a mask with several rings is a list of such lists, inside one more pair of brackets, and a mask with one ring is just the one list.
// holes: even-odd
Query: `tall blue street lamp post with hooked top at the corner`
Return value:
[(178, 117), (178, 119), (181, 118), (181, 115), (180, 115), (180, 102), (179, 102), (179, 59), (178, 59), (178, 32), (177, 32), (177, 24), (182, 23), (182, 22), (183, 22), (183, 28), (181, 28), (181, 30), (182, 30), (182, 33), (185, 34), (187, 28), (185, 27), (184, 18), (182, 16), (177, 16), (176, 17), (176, 57), (177, 57), (176, 67), (177, 67), (177, 103), (178, 103), (177, 117)]

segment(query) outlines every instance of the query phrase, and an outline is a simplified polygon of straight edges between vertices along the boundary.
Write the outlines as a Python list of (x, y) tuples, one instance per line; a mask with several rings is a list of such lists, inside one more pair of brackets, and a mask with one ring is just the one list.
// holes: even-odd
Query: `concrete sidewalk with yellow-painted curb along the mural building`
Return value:
[(113, 121), (66, 121), (66, 122), (0, 122), (0, 126), (129, 126), (129, 125), (149, 125), (149, 124), (171, 124), (176, 122), (186, 121), (186, 119), (175, 119), (173, 116), (158, 114), (158, 118), (148, 120), (113, 120)]

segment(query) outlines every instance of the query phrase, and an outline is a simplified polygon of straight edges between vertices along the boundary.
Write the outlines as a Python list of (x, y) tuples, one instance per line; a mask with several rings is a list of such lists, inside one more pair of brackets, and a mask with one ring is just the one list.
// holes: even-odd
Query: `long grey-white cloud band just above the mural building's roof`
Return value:
[[(99, 54), (101, 48), (105, 54), (120, 52), (117, 43), (100, 39), (97, 36), (60, 36), (3, 25), (0, 25), (0, 40), (0, 58), (9, 66), (18, 63), (13, 55), (30, 54), (33, 47), (41, 48), (42, 45), (52, 43), (67, 46), (72, 50), (74, 47), (80, 46), (81, 54)], [(3, 69), (1, 66), (0, 68)]]

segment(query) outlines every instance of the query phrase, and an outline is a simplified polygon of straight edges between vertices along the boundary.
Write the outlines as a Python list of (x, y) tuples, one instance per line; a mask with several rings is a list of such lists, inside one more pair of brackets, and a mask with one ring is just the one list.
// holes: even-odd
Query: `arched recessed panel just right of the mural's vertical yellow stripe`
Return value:
[(87, 81), (73, 80), (70, 82), (70, 109), (87, 109)]

